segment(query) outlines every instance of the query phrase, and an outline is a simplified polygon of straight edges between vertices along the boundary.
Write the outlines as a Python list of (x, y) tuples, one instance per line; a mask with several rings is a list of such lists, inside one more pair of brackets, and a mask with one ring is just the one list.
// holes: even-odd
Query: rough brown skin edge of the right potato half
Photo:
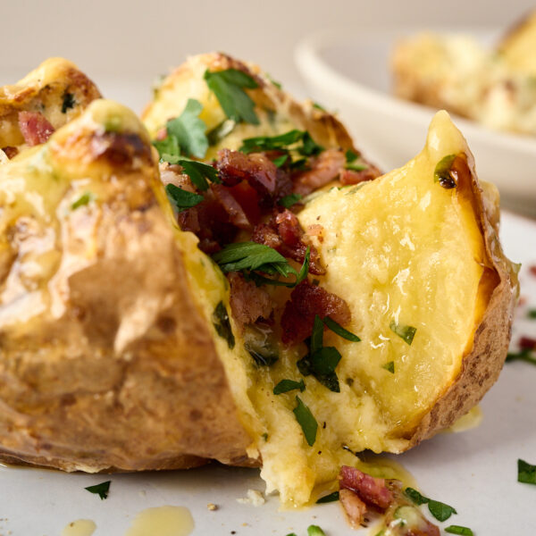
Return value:
[[(473, 197), (479, 216), (488, 262), (482, 276), (482, 292), (489, 302), (474, 333), (473, 348), (464, 356), (461, 372), (452, 386), (424, 415), (407, 448), (448, 428), (476, 406), (498, 380), (512, 336), (515, 303), (519, 293), (517, 276), (498, 241), (498, 199), (490, 199), (478, 183), (473, 155), (468, 155), (469, 175), (462, 178), (465, 195)], [(483, 287), (483, 288), (482, 288)]]

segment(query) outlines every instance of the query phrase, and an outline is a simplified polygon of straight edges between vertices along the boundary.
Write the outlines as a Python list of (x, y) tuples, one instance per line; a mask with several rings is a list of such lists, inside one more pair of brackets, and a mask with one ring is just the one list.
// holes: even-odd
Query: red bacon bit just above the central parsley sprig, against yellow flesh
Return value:
[[(303, 263), (306, 258), (307, 244), (304, 241), (304, 231), (299, 224), (296, 214), (283, 210), (276, 212), (268, 224), (257, 225), (251, 239), (264, 246), (273, 247), (281, 255)], [(309, 246), (309, 272), (322, 275), (325, 270), (320, 263), (320, 255), (314, 246)]]

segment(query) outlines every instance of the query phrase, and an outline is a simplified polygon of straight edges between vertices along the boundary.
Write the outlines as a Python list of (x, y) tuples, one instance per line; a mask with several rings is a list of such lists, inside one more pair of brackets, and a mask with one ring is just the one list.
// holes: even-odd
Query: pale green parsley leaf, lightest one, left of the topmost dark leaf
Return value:
[(203, 105), (199, 101), (188, 98), (188, 103), (180, 116), (167, 121), (168, 138), (177, 140), (182, 155), (203, 158), (206, 154), (208, 138), (205, 136), (205, 121), (198, 117), (201, 110), (203, 110)]

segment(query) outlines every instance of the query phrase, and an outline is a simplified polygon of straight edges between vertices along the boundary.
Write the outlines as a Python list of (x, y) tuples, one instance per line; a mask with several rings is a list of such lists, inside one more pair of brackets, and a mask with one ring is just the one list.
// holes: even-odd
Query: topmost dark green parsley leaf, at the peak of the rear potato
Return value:
[(253, 78), (237, 69), (215, 72), (206, 70), (204, 78), (229, 119), (259, 124), (259, 118), (255, 113), (255, 102), (244, 91), (244, 88), (258, 87)]

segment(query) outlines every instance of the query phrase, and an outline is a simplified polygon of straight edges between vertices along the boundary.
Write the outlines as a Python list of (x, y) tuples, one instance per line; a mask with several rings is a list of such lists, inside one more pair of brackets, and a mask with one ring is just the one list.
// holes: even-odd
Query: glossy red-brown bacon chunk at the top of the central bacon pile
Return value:
[(239, 151), (222, 149), (218, 152), (215, 167), (224, 186), (236, 186), (242, 180), (247, 180), (263, 199), (276, 194), (278, 169), (261, 153), (244, 155)]

